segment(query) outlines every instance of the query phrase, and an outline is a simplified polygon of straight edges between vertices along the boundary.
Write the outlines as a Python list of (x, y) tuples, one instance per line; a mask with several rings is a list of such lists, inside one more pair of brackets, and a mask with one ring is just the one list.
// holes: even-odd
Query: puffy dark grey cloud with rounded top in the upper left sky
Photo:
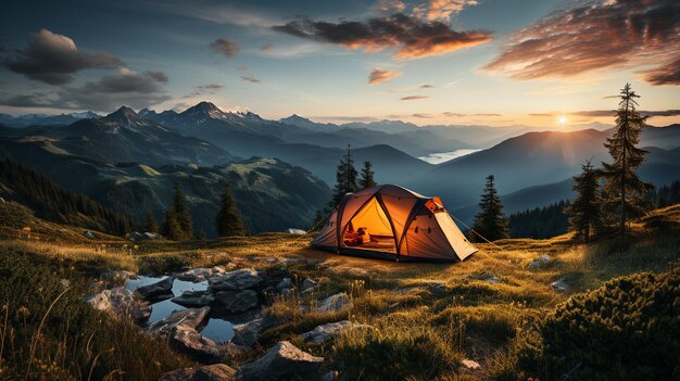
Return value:
[(28, 47), (8, 59), (12, 72), (49, 85), (72, 81), (86, 68), (115, 68), (123, 65), (117, 56), (105, 52), (80, 53), (73, 39), (40, 29), (32, 36)]

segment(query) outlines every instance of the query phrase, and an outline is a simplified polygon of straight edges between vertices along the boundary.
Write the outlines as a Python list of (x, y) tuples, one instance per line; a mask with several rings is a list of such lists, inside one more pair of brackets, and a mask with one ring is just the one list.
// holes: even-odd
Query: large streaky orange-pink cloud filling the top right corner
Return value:
[(678, 54), (677, 0), (587, 0), (516, 31), (483, 68), (534, 79), (665, 62), (646, 72), (644, 79), (677, 85)]

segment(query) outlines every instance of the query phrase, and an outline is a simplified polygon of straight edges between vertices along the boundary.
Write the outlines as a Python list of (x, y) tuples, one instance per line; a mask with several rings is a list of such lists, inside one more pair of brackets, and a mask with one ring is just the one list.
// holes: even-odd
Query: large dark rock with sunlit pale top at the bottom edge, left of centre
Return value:
[(311, 380), (323, 361), (324, 357), (312, 356), (290, 342), (282, 341), (270, 347), (261, 358), (242, 366), (237, 376), (243, 381)]

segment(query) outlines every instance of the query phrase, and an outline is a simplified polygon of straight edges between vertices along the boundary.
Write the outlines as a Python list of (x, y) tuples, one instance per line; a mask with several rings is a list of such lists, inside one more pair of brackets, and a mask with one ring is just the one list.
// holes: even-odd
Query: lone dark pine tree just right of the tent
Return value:
[(507, 238), (507, 220), (503, 215), (501, 198), (493, 185), (493, 175), (487, 176), (479, 208), (481, 211), (475, 216), (475, 231), (490, 241)]

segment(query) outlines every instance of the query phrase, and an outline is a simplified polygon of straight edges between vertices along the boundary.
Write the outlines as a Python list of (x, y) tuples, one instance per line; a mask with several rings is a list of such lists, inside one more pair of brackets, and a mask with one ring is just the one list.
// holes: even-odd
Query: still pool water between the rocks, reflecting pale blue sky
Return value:
[[(166, 278), (167, 277), (139, 276), (139, 279), (128, 279), (125, 282), (125, 288), (128, 290), (137, 290), (140, 287), (153, 284)], [(185, 280), (175, 279), (175, 281), (173, 282), (173, 293), (175, 294), (175, 296), (181, 295), (181, 293), (185, 291), (203, 291), (206, 289), (206, 280), (198, 283), (192, 283)], [(172, 315), (175, 312), (187, 309), (179, 304), (173, 303), (173, 301), (169, 299), (154, 303), (151, 306), (153, 307), (153, 309), (151, 310), (149, 322), (163, 320), (163, 318)], [(231, 340), (231, 338), (234, 338), (234, 328), (232, 325), (227, 320), (210, 318), (205, 328), (201, 330), (201, 334), (218, 343)]]

